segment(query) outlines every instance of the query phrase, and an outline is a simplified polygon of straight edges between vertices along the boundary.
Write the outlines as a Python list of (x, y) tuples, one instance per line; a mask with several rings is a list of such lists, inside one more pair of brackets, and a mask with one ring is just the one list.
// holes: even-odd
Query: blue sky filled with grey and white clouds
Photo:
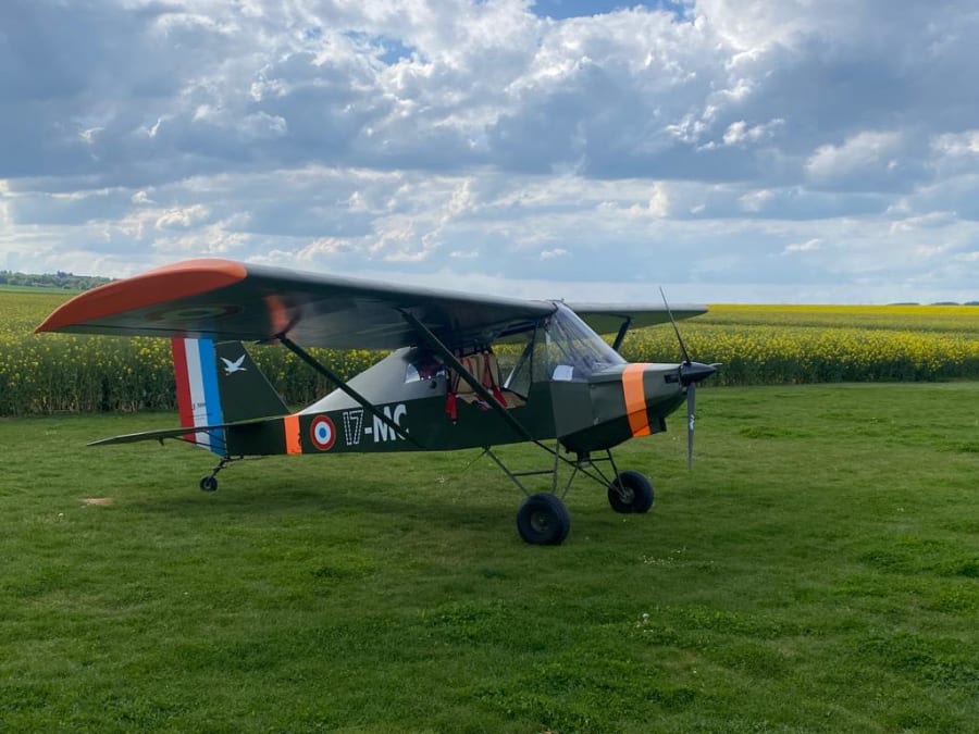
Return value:
[(975, 0), (3, 0), (0, 270), (979, 300)]

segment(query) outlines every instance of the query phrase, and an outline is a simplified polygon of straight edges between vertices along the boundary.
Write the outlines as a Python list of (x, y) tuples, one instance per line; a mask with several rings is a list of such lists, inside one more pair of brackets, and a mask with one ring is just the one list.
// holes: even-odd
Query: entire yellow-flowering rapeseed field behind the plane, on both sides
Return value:
[[(70, 295), (0, 289), (0, 415), (173, 409), (166, 339), (33, 334)], [(712, 306), (680, 327), (694, 359), (723, 364), (715, 385), (979, 377), (979, 307)], [(293, 405), (329, 388), (284, 349), (252, 351)], [(314, 351), (345, 376), (381, 357)], [(680, 359), (669, 326), (631, 333), (622, 353)]]

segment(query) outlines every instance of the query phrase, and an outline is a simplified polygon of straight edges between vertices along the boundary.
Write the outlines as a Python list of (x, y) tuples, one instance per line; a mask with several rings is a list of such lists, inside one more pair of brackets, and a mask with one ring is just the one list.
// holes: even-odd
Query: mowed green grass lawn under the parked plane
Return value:
[(478, 452), (207, 495), (203, 451), (83, 445), (175, 416), (0, 421), (0, 731), (977, 731), (979, 384), (698, 408), (693, 471), (682, 418), (618, 452), (648, 515), (575, 484), (556, 548)]

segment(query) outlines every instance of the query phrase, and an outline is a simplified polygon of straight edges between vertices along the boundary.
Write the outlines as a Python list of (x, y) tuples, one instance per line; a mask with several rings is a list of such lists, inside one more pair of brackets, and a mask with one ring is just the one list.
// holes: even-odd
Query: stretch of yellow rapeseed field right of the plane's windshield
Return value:
[[(979, 377), (979, 307), (721, 304), (681, 329), (693, 358), (724, 365), (714, 384)], [(679, 353), (659, 328), (628, 337), (622, 351)]]

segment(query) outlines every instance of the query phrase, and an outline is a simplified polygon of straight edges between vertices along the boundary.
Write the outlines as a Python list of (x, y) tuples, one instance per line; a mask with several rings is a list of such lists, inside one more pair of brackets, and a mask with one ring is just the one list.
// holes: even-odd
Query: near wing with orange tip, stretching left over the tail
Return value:
[(397, 349), (417, 341), (402, 316), (407, 311), (457, 348), (528, 329), (555, 308), (201, 259), (86, 291), (36, 331), (243, 341), (286, 334), (307, 347)]

